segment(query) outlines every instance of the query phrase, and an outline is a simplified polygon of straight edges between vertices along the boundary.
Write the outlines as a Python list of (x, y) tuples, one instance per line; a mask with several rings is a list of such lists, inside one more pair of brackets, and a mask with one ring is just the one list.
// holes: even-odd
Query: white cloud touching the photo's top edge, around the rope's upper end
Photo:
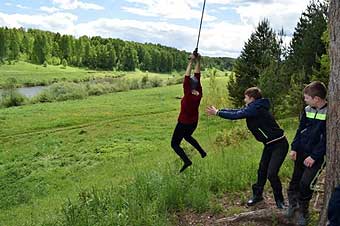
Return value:
[[(166, 19), (200, 19), (201, 5), (194, 0), (127, 0), (133, 7), (124, 6), (126, 12), (141, 16), (161, 17)], [(203, 2), (202, 2), (203, 3)], [(205, 21), (216, 20), (216, 17), (204, 15)]]

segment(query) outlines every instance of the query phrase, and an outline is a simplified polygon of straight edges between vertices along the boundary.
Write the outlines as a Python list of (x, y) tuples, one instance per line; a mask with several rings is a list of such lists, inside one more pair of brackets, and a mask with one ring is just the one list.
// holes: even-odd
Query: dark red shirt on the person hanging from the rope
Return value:
[(181, 101), (181, 112), (178, 116), (178, 122), (183, 124), (193, 124), (198, 122), (198, 108), (202, 99), (201, 74), (194, 75), (198, 80), (196, 90), (199, 92), (198, 96), (191, 93), (190, 76), (185, 76), (183, 81), (184, 96)]

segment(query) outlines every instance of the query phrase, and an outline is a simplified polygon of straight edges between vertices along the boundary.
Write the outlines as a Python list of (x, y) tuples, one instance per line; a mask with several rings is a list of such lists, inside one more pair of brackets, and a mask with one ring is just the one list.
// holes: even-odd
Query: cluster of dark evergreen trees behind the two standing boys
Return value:
[(328, 1), (311, 1), (301, 14), (293, 38), (285, 45), (282, 29), (275, 32), (267, 19), (259, 22), (245, 43), (227, 85), (236, 106), (243, 105), (243, 92), (258, 86), (272, 102), (277, 115), (298, 114), (303, 107), (301, 91), (311, 80), (328, 84)]

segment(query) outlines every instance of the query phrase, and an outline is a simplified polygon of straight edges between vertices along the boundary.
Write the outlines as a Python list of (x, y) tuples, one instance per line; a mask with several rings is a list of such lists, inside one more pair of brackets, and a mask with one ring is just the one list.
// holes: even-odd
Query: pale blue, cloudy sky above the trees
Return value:
[[(199, 51), (237, 57), (259, 21), (289, 43), (309, 0), (206, 0)], [(203, 0), (2, 0), (0, 26), (195, 48)]]

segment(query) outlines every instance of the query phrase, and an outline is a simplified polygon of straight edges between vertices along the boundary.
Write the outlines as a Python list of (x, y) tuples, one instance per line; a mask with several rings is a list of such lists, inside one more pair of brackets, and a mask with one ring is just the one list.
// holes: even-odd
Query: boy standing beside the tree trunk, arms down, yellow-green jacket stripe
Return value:
[(322, 82), (312, 82), (304, 90), (307, 104), (300, 119), (299, 128), (292, 142), (290, 157), (294, 172), (288, 188), (289, 208), (287, 217), (298, 211), (297, 224), (304, 226), (309, 220), (309, 201), (313, 186), (325, 166), (327, 89)]

